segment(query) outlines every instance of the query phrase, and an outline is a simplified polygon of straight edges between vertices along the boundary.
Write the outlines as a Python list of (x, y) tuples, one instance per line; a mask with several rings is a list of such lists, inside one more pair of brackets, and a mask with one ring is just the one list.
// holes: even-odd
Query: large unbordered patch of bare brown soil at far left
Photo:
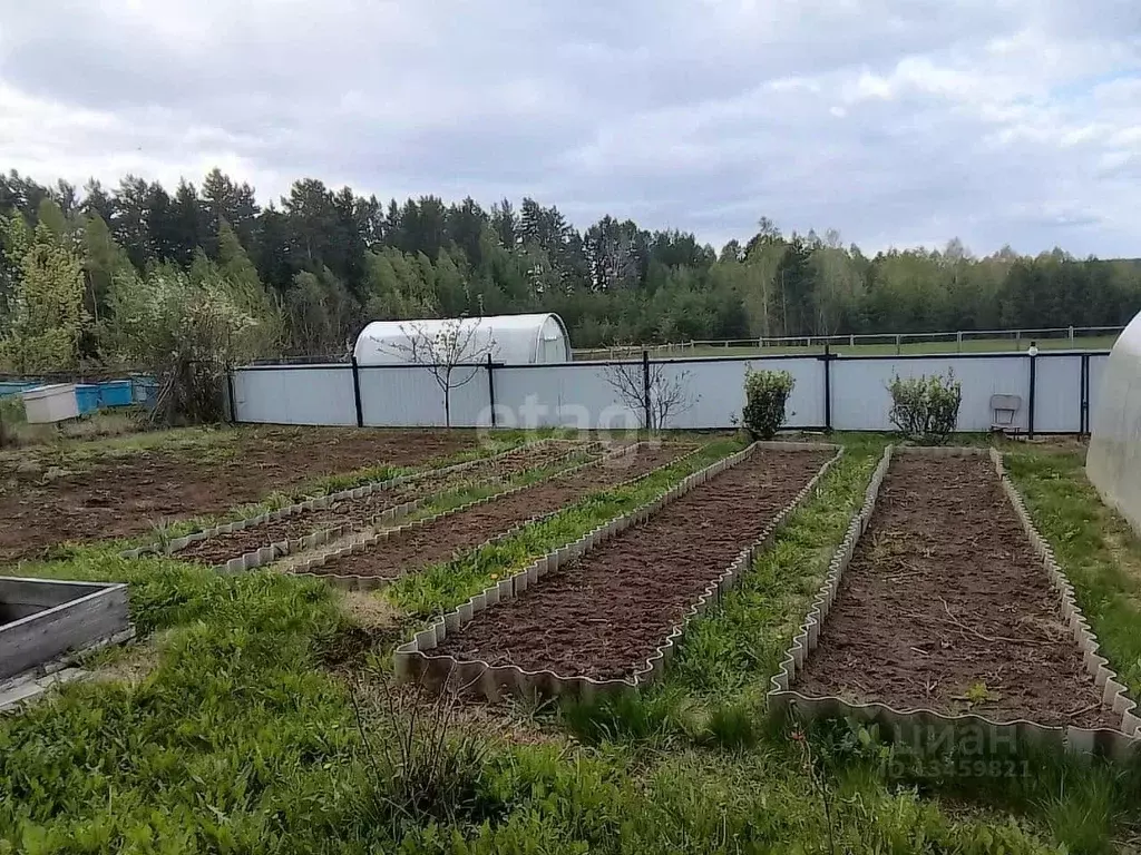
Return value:
[[(83, 471), (19, 471), (0, 462), (0, 563), (52, 545), (137, 535), (161, 522), (221, 513), (274, 490), (364, 466), (414, 466), (474, 448), (475, 431), (256, 427), (217, 446), (84, 459)], [(228, 440), (228, 441), (227, 441)], [(31, 458), (17, 458), (27, 466)], [(66, 466), (66, 462), (64, 463)], [(50, 471), (50, 470), (49, 470)]]

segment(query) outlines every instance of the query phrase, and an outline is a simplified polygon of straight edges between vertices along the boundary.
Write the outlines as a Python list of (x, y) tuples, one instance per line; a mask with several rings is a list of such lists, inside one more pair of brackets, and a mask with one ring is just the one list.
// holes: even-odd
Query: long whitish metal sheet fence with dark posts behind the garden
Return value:
[[(1109, 351), (915, 356), (764, 356), (582, 361), (558, 365), (485, 363), (458, 368), (467, 378), (451, 393), (451, 424), (467, 427), (639, 427), (645, 392), (680, 389), (669, 429), (733, 427), (744, 405), (745, 370), (793, 375), (786, 426), (801, 430), (891, 430), (895, 376), (954, 374), (962, 383), (960, 431), (987, 431), (994, 394), (1018, 396), (1012, 427), (1029, 434), (1089, 432), (1090, 413)], [(623, 396), (615, 370), (642, 368), (642, 396)], [(653, 376), (654, 381), (650, 380)], [(245, 366), (229, 375), (237, 422), (358, 426), (443, 426), (444, 391), (423, 366), (350, 364)]]

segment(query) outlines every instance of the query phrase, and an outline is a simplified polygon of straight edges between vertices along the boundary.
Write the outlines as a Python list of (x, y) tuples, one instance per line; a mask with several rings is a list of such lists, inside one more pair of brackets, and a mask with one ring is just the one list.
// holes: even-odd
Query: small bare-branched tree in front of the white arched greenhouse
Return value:
[(444, 393), (444, 423), (452, 426), (452, 390), (464, 386), (479, 374), (480, 363), (495, 351), (495, 339), (483, 339), (483, 318), (448, 318), (431, 332), (423, 321), (400, 324), (405, 342), (382, 344), (403, 360), (427, 368)]

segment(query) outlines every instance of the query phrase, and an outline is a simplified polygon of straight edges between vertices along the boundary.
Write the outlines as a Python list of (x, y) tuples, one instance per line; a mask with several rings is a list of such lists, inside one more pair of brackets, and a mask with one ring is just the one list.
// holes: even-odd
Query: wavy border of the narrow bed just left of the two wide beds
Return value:
[[(550, 481), (556, 481), (556, 480), (558, 480), (560, 478), (566, 478), (567, 475), (572, 475), (572, 474), (578, 472), (580, 470), (586, 469), (588, 466), (602, 465), (607, 461), (613, 461), (613, 459), (616, 459), (618, 457), (624, 457), (624, 456), (629, 456), (629, 455), (636, 454), (638, 449), (644, 448), (644, 447), (649, 446), (649, 445), (650, 445), (649, 442), (634, 442), (634, 443), (631, 443), (629, 446), (622, 446), (622, 447), (615, 449), (614, 451), (612, 451), (612, 453), (609, 453), (607, 455), (604, 455), (604, 456), (601, 456), (601, 457), (599, 457), (597, 459), (586, 461), (585, 463), (583, 463), (583, 464), (581, 464), (578, 466), (573, 466), (570, 469), (564, 470), (563, 472), (558, 472), (555, 475), (552, 475), (550, 479), (547, 479), (547, 480), (544, 480), (542, 482), (536, 482), (536, 483), (548, 483)], [(641, 481), (642, 479), (649, 478), (650, 475), (653, 475), (653, 474), (655, 474), (657, 472), (661, 472), (666, 466), (673, 466), (679, 461), (683, 461), (683, 459), (686, 459), (688, 457), (693, 457), (695, 454), (697, 454), (698, 451), (701, 451), (703, 447), (704, 446), (698, 446), (694, 450), (691, 450), (691, 451), (689, 451), (687, 454), (683, 454), (680, 457), (678, 457), (678, 458), (675, 458), (673, 461), (670, 461), (669, 463), (664, 463), (661, 466), (656, 466), (653, 470), (650, 470), (649, 472), (646, 472), (645, 474), (638, 475), (637, 478), (631, 478), (631, 479), (629, 479), (626, 481), (621, 481), (621, 482), (614, 484), (613, 487), (608, 487), (607, 489), (615, 490), (615, 489), (621, 489), (623, 487), (629, 487), (632, 483), (636, 483), (638, 481)], [(296, 567), (292, 570), (290, 570), (290, 572), (293, 576), (309, 576), (309, 577), (313, 577), (315, 579), (323, 579), (324, 581), (329, 583), (330, 585), (333, 585), (334, 587), (338, 587), (338, 588), (343, 588), (346, 591), (377, 591), (378, 588), (386, 587), (393, 580), (389, 579), (389, 578), (380, 578), (380, 577), (377, 577), (377, 576), (353, 576), (353, 575), (348, 575), (348, 573), (346, 573), (346, 575), (316, 573), (316, 572), (313, 572), (313, 570), (315, 568), (323, 567), (324, 564), (326, 564), (330, 561), (333, 561), (335, 559), (340, 559), (340, 557), (345, 557), (347, 555), (361, 554), (363, 552), (366, 552), (367, 549), (372, 548), (373, 546), (375, 546), (381, 540), (390, 538), (394, 535), (399, 534), (400, 531), (405, 531), (406, 529), (416, 528), (416, 527), (420, 527), (420, 526), (428, 526), (428, 524), (430, 524), (432, 522), (438, 522), (439, 520), (445, 519), (447, 516), (451, 516), (452, 514), (459, 513), (460, 511), (467, 511), (468, 508), (475, 507), (477, 505), (484, 505), (484, 504), (487, 504), (488, 502), (494, 502), (496, 499), (501, 499), (501, 498), (503, 498), (505, 496), (510, 496), (513, 492), (520, 492), (521, 490), (526, 490), (527, 488), (534, 487), (534, 486), (536, 486), (536, 484), (535, 483), (520, 484), (519, 487), (515, 487), (515, 488), (512, 488), (510, 490), (504, 490), (503, 492), (496, 492), (494, 496), (487, 496), (487, 497), (482, 498), (482, 499), (476, 499), (475, 502), (469, 502), (466, 505), (461, 505), (459, 507), (453, 507), (453, 508), (451, 508), (448, 511), (444, 511), (442, 513), (435, 514), (434, 516), (427, 516), (427, 518), (424, 518), (422, 520), (416, 520), (415, 522), (411, 522), (407, 526), (400, 526), (399, 528), (389, 529), (387, 531), (380, 531), (377, 535), (374, 535), (374, 536), (372, 536), (370, 538), (366, 538), (366, 539), (364, 539), (364, 540), (362, 540), (362, 542), (359, 542), (357, 544), (350, 544), (348, 546), (342, 546), (339, 549), (333, 549), (332, 552), (327, 552), (327, 553), (325, 553), (323, 555), (317, 555), (316, 557), (306, 560), (305, 562), (302, 562), (298, 567)], [(559, 508), (557, 508), (555, 511), (550, 511), (550, 512), (544, 513), (544, 514), (535, 514), (534, 516), (531, 516), (531, 518), (524, 520), (523, 522), (512, 526), (509, 529), (505, 529), (503, 531), (500, 531), (496, 535), (493, 535), (492, 537), (487, 538), (482, 544), (479, 544), (478, 546), (476, 546), (476, 547), (474, 547), (471, 549), (467, 549), (466, 548), (466, 549), (456, 552), (455, 555), (453, 555), (453, 557), (451, 560), (454, 560), (454, 557), (456, 555), (461, 554), (461, 553), (466, 553), (466, 552), (479, 552), (480, 549), (483, 549), (483, 548), (485, 548), (487, 546), (491, 546), (492, 544), (499, 543), (501, 540), (505, 540), (507, 538), (512, 537), (513, 535), (518, 534), (523, 528), (525, 528), (527, 526), (534, 526), (534, 524), (536, 524), (539, 522), (542, 522), (542, 521), (544, 521), (547, 519), (550, 519), (551, 516), (555, 516), (556, 514), (561, 513), (564, 510), (565, 508), (559, 507)]]

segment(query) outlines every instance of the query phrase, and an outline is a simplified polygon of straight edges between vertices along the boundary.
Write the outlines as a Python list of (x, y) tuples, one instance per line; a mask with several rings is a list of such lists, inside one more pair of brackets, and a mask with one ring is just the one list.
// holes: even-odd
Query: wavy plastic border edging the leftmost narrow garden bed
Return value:
[[(124, 559), (137, 559), (143, 555), (172, 555), (175, 553), (185, 549), (187, 546), (200, 540), (209, 540), (218, 535), (229, 535), (234, 531), (244, 531), (245, 529), (256, 528), (262, 526), (267, 522), (276, 522), (277, 520), (284, 520), (290, 516), (296, 516), (307, 511), (323, 511), (339, 502), (357, 502), (371, 496), (373, 492), (380, 492), (382, 490), (390, 490), (394, 487), (399, 487), (400, 484), (414, 483), (415, 481), (423, 480), (429, 477), (440, 475), (440, 474), (455, 474), (458, 472), (463, 472), (475, 466), (501, 461), (502, 458), (512, 455), (521, 450), (534, 450), (536, 448), (542, 448), (543, 446), (550, 445), (552, 442), (564, 442), (566, 440), (559, 439), (543, 439), (537, 442), (525, 442), (513, 448), (508, 448), (499, 454), (494, 454), (491, 457), (477, 457), (471, 461), (464, 461), (463, 463), (455, 463), (451, 466), (443, 466), (440, 469), (429, 469), (420, 472), (410, 472), (404, 475), (396, 475), (386, 481), (373, 481), (371, 483), (362, 484), (361, 487), (354, 487), (347, 490), (339, 490), (338, 492), (331, 492), (325, 496), (318, 496), (316, 498), (305, 499), (304, 502), (297, 502), (292, 505), (286, 505), (285, 507), (278, 508), (276, 511), (268, 511), (266, 513), (257, 514), (254, 516), (246, 516), (241, 520), (234, 520), (233, 522), (225, 522), (220, 526), (213, 526), (209, 529), (202, 529), (201, 531), (195, 531), (185, 537), (177, 537), (171, 539), (165, 546), (163, 544), (149, 544), (146, 546), (138, 546), (132, 549), (127, 549), (120, 555)], [(584, 442), (581, 448), (574, 448), (561, 457), (551, 462), (551, 465), (558, 464), (559, 462), (569, 459), (580, 454), (589, 453), (589, 450), (600, 443), (598, 442)], [(480, 483), (494, 482), (495, 478), (488, 478)], [(422, 496), (419, 499), (413, 499), (412, 502), (405, 502), (403, 504), (389, 507), (378, 514), (371, 516), (365, 524), (374, 526), (378, 522), (395, 522), (396, 520), (407, 516), (410, 513), (415, 511), (418, 507), (423, 505), (428, 499), (437, 494), (429, 494)], [(343, 537), (350, 534), (354, 526), (348, 523), (343, 526), (334, 526), (327, 529), (321, 529), (319, 531), (314, 531), (305, 537), (289, 538), (288, 540), (280, 540), (267, 547), (261, 547), (260, 549), (254, 549), (230, 561), (218, 564), (215, 569), (226, 569), (232, 564), (236, 567), (237, 561), (242, 561), (244, 567), (238, 569), (250, 570), (256, 567), (261, 567), (262, 564), (275, 561), (283, 555), (288, 555), (291, 552), (296, 552), (298, 548), (313, 548), (315, 546), (321, 546), (330, 540), (335, 540), (339, 537)]]

